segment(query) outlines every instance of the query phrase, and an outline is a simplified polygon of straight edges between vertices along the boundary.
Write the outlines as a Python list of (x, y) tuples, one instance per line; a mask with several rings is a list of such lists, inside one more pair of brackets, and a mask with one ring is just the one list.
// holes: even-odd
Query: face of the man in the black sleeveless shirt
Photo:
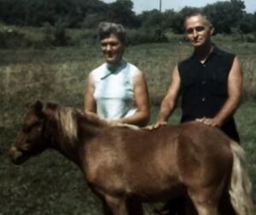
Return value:
[(212, 26), (207, 25), (206, 20), (201, 14), (191, 16), (185, 21), (186, 37), (195, 48), (210, 42), (212, 32)]

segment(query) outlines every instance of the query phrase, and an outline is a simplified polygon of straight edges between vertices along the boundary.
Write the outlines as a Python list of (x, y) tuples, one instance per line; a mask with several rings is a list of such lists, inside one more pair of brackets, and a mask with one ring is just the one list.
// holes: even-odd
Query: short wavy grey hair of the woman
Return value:
[(111, 34), (119, 37), (119, 41), (125, 44), (125, 28), (123, 25), (113, 22), (101, 22), (98, 26), (100, 40), (109, 37)]

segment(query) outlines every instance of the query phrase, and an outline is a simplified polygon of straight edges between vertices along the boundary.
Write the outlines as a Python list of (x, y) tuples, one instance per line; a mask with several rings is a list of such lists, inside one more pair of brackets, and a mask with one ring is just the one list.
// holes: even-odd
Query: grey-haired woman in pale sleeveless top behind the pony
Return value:
[(89, 74), (85, 111), (113, 124), (145, 126), (150, 116), (147, 83), (143, 72), (123, 59), (124, 27), (102, 22), (98, 35), (106, 62)]

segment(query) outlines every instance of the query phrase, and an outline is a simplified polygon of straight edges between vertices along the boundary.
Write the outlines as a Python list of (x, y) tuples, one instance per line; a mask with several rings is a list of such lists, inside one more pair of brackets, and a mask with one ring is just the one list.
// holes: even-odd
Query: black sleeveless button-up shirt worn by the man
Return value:
[[(194, 55), (178, 64), (182, 86), (181, 122), (213, 117), (218, 113), (228, 98), (227, 82), (234, 58), (234, 54), (214, 47), (204, 64)], [(239, 142), (233, 117), (221, 129)]]

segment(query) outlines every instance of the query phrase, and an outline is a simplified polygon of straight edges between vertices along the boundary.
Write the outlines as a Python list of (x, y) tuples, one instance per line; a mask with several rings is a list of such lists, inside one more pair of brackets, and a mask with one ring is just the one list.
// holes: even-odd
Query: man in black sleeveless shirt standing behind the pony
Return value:
[[(239, 142), (233, 115), (241, 101), (240, 61), (212, 43), (214, 29), (204, 14), (189, 14), (184, 20), (184, 28), (194, 53), (174, 68), (172, 83), (160, 105), (154, 127), (166, 125), (181, 95), (181, 122), (197, 121), (219, 127)], [(169, 201), (160, 213), (184, 214), (184, 201), (183, 198)]]

